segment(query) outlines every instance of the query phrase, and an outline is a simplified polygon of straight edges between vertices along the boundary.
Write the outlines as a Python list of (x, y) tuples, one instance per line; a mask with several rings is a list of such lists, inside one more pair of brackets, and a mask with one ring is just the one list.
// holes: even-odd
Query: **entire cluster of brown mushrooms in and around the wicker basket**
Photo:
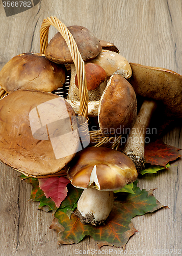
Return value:
[[(67, 29), (85, 62), (88, 118), (98, 118), (99, 131), (108, 138), (121, 136), (127, 128), (135, 128), (136, 132), (128, 135), (122, 153), (104, 145), (89, 145), (79, 151), (73, 118), (80, 109), (78, 81), (70, 51), (58, 32), (44, 54), (19, 54), (0, 72), (1, 95), (8, 93), (0, 101), (0, 159), (31, 177), (67, 175), (73, 186), (84, 189), (77, 202), (77, 215), (83, 223), (98, 225), (112, 210), (113, 191), (134, 182), (144, 168), (143, 131), (157, 101), (164, 104), (169, 116), (182, 117), (182, 76), (162, 68), (128, 63), (113, 44), (98, 40), (88, 29)], [(54, 92), (64, 87), (68, 70), (69, 92), (63, 98)], [(138, 115), (136, 95), (144, 97)], [(46, 107), (38, 112), (45, 103)], [(66, 108), (66, 114), (61, 106)], [(34, 110), (32, 122), (38, 122), (35, 134), (30, 124)], [(64, 122), (59, 120), (69, 126), (66, 135), (62, 132)], [(53, 122), (57, 126), (54, 131), (48, 126)], [(53, 141), (59, 141), (59, 157), (53, 151)]]

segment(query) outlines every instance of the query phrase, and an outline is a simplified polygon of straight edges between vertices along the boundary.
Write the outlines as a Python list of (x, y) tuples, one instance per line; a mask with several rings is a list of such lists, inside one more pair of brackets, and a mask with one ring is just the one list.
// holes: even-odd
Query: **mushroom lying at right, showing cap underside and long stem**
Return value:
[(144, 97), (132, 133), (129, 135), (124, 153), (131, 157), (138, 171), (145, 166), (145, 132), (158, 102), (163, 104), (169, 117), (182, 117), (182, 76), (174, 71), (159, 67), (148, 67), (130, 63), (132, 84), (136, 95)]

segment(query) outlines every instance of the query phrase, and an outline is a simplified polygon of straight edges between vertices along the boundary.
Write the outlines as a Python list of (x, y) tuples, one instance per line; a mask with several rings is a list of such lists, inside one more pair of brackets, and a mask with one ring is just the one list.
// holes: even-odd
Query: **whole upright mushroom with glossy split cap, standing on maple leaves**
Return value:
[(88, 147), (75, 156), (68, 171), (73, 186), (84, 188), (77, 202), (82, 223), (99, 225), (113, 207), (113, 190), (137, 179), (134, 163), (121, 152), (105, 147)]

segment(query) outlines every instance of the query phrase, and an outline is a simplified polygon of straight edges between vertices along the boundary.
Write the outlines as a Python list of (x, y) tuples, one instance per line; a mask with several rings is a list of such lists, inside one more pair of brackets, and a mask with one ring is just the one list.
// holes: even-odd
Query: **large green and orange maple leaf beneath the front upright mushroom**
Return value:
[(76, 215), (72, 214), (69, 219), (64, 212), (58, 209), (50, 226), (50, 229), (57, 231), (58, 243), (77, 244), (85, 236), (91, 236), (99, 247), (103, 245), (124, 247), (129, 238), (137, 231), (131, 222), (132, 218), (164, 207), (154, 198), (153, 189), (140, 190), (136, 181), (133, 190), (135, 194), (118, 193), (105, 225), (84, 225)]

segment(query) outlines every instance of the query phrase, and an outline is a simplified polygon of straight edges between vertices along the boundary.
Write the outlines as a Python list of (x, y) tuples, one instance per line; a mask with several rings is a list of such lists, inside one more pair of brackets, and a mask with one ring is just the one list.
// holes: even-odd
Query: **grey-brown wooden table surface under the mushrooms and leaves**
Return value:
[[(8, 17), (2, 0), (0, 70), (17, 54), (39, 52), (39, 29), (43, 19), (51, 15), (66, 26), (82, 25), (99, 39), (113, 42), (129, 62), (182, 74), (181, 0), (41, 0), (32, 9)], [(56, 29), (51, 28), (49, 38), (55, 33)], [(182, 148), (181, 135), (178, 122), (162, 139)], [(79, 255), (91, 249), (87, 255), (99, 255), (97, 244), (90, 237), (77, 245), (57, 246), (56, 231), (49, 229), (51, 213), (37, 210), (39, 203), (29, 200), (31, 185), (22, 182), (19, 173), (7, 165), (1, 163), (0, 168), (1, 256), (76, 255), (75, 249), (79, 249)], [(167, 255), (166, 249), (177, 249), (171, 255), (182, 253), (181, 173), (179, 159), (168, 171), (145, 175), (139, 180), (140, 188), (157, 188), (155, 198), (170, 209), (132, 220), (139, 232), (129, 239), (125, 255)], [(102, 255), (119, 255), (116, 247), (104, 246), (101, 250)]]

